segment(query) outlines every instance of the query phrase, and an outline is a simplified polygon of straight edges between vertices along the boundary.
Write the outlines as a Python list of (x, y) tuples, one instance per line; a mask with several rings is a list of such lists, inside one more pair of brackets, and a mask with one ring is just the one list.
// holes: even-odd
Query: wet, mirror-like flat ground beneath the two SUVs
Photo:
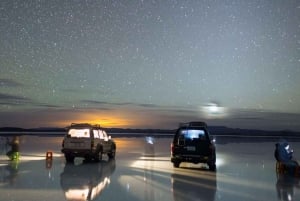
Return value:
[[(0, 200), (272, 201), (300, 200), (300, 179), (277, 175), (274, 144), (242, 139), (218, 143), (217, 171), (202, 164), (170, 162), (171, 138), (116, 138), (116, 159), (100, 163), (77, 158), (66, 165), (61, 137), (20, 137), (19, 161), (8, 161), (0, 137)], [(300, 158), (300, 142), (291, 141)], [(53, 154), (46, 160), (46, 152)]]

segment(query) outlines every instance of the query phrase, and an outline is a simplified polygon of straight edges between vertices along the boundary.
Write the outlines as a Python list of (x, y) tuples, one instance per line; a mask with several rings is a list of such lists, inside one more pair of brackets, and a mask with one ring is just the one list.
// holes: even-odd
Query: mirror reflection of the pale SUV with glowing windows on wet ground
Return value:
[(102, 163), (67, 163), (60, 175), (61, 188), (67, 200), (94, 200), (110, 184), (115, 160)]

